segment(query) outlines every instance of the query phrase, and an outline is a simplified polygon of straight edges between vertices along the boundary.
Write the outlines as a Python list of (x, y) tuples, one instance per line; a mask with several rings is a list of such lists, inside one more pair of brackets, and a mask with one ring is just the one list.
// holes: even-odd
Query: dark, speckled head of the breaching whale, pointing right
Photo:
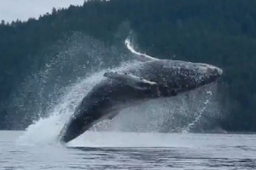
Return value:
[(169, 59), (161, 59), (153, 63), (158, 65), (157, 69), (152, 69), (156, 82), (177, 92), (189, 91), (216, 82), (223, 74), (222, 69), (217, 66), (204, 63)]

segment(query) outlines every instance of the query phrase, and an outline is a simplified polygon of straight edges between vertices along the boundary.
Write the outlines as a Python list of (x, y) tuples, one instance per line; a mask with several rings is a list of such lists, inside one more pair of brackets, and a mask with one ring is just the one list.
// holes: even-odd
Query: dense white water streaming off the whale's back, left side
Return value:
[[(137, 65), (137, 63), (123, 63), (112, 71), (122, 71), (128, 65)], [(37, 122), (26, 128), (26, 133), (18, 139), (19, 144), (55, 144), (61, 128), (65, 125), (69, 117), (73, 114), (75, 107), (79, 105), (81, 99), (90, 92), (96, 83), (102, 81), (103, 74), (108, 71), (102, 70), (76, 82), (73, 86), (67, 87), (67, 93), (63, 95), (58, 105), (53, 108), (48, 117), (40, 118)]]

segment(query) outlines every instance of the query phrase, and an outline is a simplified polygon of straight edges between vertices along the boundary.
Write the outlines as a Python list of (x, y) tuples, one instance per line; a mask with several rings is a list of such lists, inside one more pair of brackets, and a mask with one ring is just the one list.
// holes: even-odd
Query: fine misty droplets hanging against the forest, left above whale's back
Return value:
[(90, 77), (92, 73), (117, 67), (131, 59), (127, 51), (107, 47), (79, 32), (51, 48), (54, 53), (37, 57), (44, 59), (45, 65), (28, 75), (10, 95), (8, 112), (12, 114), (8, 119), (13, 129), (23, 129), (31, 120), (49, 116), (53, 105), (58, 105), (66, 95), (66, 87)]

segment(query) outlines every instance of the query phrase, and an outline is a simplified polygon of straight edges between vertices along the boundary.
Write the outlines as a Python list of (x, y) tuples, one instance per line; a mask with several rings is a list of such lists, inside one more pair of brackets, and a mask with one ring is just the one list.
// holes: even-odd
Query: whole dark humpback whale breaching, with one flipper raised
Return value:
[(119, 111), (150, 99), (176, 96), (215, 82), (223, 71), (214, 65), (182, 60), (156, 59), (126, 47), (143, 62), (124, 71), (104, 73), (76, 107), (73, 116), (61, 129), (61, 143), (79, 137), (104, 119), (113, 119)]

